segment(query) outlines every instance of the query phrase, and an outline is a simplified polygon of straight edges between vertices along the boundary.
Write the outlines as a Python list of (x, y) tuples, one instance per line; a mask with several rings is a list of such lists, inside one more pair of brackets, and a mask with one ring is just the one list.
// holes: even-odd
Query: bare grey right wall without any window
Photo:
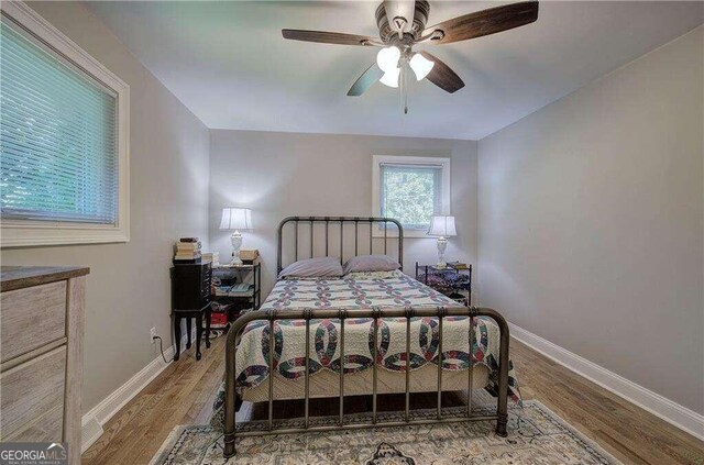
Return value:
[(702, 44), (698, 27), (479, 143), (481, 303), (698, 413)]

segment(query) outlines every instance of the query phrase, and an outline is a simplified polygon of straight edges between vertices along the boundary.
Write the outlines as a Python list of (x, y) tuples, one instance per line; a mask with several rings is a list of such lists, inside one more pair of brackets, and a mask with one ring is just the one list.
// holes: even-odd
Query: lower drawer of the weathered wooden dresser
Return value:
[(65, 374), (65, 345), (0, 374), (0, 441), (25, 441), (21, 433), (31, 431), (36, 419), (63, 411)]

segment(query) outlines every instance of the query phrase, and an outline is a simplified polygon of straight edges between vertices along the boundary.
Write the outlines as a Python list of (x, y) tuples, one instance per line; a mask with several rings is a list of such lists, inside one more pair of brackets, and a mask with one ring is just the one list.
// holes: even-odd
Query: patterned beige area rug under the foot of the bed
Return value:
[[(443, 414), (461, 414), (444, 408)], [(435, 410), (415, 412), (433, 416)], [(382, 414), (380, 414), (382, 416)], [(383, 413), (382, 420), (400, 419)], [(350, 422), (363, 416), (345, 417)], [(320, 423), (337, 418), (322, 418)], [(279, 424), (300, 425), (300, 420)], [(242, 430), (262, 428), (244, 423)], [(154, 465), (210, 464), (618, 464), (619, 462), (578, 432), (537, 400), (509, 410), (508, 438), (494, 433), (494, 421), (377, 428), (241, 438), (238, 454), (222, 458), (222, 432), (210, 425), (177, 427), (152, 458)]]

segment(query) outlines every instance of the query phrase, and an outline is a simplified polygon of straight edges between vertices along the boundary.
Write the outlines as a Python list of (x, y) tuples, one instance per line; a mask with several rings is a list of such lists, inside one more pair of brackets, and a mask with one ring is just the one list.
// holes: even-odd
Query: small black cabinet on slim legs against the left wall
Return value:
[[(190, 348), (191, 318), (196, 319), (196, 359), (200, 359), (200, 336), (206, 331), (206, 347), (210, 347), (210, 262), (194, 264), (174, 264), (172, 268), (172, 315), (174, 318), (174, 339), (176, 353), (180, 355), (180, 320), (186, 319), (188, 343)], [(206, 328), (202, 328), (204, 317)]]

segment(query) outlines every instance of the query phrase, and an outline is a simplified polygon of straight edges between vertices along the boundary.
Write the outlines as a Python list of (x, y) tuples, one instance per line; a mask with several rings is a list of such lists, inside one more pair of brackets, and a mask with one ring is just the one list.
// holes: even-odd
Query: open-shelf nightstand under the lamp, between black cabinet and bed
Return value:
[[(210, 292), (213, 313), (226, 313), (227, 322), (234, 321), (242, 310), (257, 310), (262, 302), (262, 265), (220, 265), (212, 268)], [(218, 317), (216, 315), (216, 319)], [(227, 324), (215, 324), (212, 330), (224, 330)]]

